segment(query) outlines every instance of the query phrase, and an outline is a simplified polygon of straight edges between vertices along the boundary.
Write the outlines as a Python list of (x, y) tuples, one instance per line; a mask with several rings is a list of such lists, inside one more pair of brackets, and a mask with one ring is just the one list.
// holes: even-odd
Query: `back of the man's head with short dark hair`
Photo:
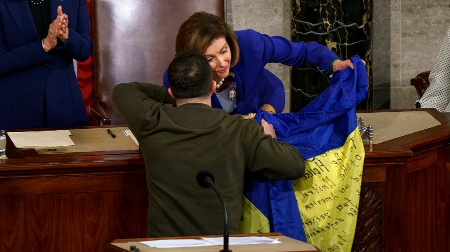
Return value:
[(175, 99), (210, 95), (212, 72), (206, 59), (195, 49), (176, 54), (167, 69), (167, 78)]

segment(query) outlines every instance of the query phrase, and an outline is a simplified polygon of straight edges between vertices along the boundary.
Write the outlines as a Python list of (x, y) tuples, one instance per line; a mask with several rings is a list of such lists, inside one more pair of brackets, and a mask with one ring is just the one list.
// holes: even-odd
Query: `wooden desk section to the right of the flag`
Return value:
[[(378, 144), (364, 144), (358, 222), (352, 251), (450, 251), (450, 113), (427, 112), (441, 124)], [(389, 130), (406, 131), (416, 116)], [(384, 127), (384, 125), (382, 125)], [(377, 129), (374, 126), (374, 138)]]

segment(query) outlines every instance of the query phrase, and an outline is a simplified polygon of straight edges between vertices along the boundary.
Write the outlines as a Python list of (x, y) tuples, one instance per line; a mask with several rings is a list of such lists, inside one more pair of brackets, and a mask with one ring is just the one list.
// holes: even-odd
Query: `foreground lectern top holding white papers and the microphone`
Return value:
[[(280, 244), (255, 244), (255, 245), (230, 245), (229, 250), (233, 252), (318, 252), (318, 250), (307, 243), (303, 243), (279, 233), (264, 233), (254, 235), (231, 235), (230, 237), (245, 236), (264, 236), (270, 239), (278, 239)], [(202, 236), (202, 237), (218, 237), (218, 236)], [(146, 238), (146, 239), (124, 239), (115, 240), (105, 245), (104, 252), (129, 252), (129, 246), (136, 246), (141, 252), (218, 252), (223, 246), (206, 246), (206, 247), (184, 247), (184, 248), (151, 248), (139, 242), (167, 240), (167, 239), (199, 239), (199, 237), (170, 237), (170, 238)]]

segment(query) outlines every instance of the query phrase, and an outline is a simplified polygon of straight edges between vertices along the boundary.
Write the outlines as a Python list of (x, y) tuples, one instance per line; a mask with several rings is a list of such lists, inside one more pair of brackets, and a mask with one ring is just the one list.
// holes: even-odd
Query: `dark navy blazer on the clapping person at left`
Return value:
[(73, 60), (92, 51), (86, 0), (50, 0), (68, 16), (66, 43), (45, 52), (27, 0), (0, 1), (0, 129), (88, 125)]

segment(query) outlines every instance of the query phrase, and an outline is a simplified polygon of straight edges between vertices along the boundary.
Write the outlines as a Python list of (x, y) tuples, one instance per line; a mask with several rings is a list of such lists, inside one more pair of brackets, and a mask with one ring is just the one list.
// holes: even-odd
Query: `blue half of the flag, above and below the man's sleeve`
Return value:
[[(356, 105), (367, 96), (367, 73), (358, 56), (354, 69), (337, 71), (330, 86), (297, 113), (268, 114), (259, 110), (255, 119), (272, 124), (277, 139), (295, 146), (304, 159), (341, 147), (356, 129)], [(244, 196), (270, 222), (270, 231), (306, 242), (292, 183), (248, 178)]]

